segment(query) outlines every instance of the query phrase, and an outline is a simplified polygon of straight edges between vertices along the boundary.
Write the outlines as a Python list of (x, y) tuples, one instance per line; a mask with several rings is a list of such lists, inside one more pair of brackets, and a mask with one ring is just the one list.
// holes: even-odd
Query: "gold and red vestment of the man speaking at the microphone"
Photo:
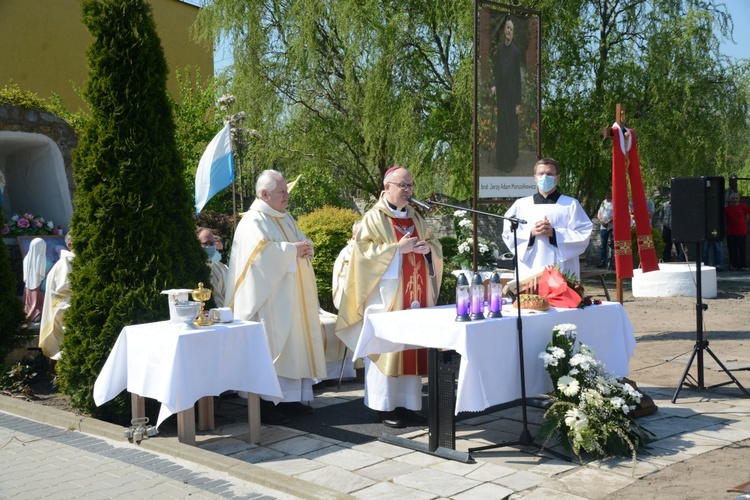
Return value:
[[(417, 236), (430, 245), (432, 270), (427, 256), (399, 255), (398, 242), (405, 235)], [(391, 264), (400, 258), (397, 275)], [(349, 263), (344, 293), (339, 308), (336, 335), (351, 349), (357, 346), (366, 314), (434, 306), (443, 275), (443, 251), (440, 242), (424, 219), (410, 206), (399, 216), (384, 196), (362, 219)], [(389, 376), (427, 373), (426, 349), (370, 356)]]

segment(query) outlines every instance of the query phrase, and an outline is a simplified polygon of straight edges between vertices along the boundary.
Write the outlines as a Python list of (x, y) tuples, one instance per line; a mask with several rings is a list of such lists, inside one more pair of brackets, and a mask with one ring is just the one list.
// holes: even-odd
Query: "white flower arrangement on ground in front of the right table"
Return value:
[(545, 444), (555, 444), (575, 454), (597, 457), (609, 455), (636, 458), (653, 433), (637, 424), (631, 412), (642, 394), (630, 384), (621, 383), (607, 373), (604, 365), (587, 345), (576, 341), (576, 325), (555, 325), (552, 342), (539, 354), (552, 378), (552, 405), (544, 414), (539, 429)]

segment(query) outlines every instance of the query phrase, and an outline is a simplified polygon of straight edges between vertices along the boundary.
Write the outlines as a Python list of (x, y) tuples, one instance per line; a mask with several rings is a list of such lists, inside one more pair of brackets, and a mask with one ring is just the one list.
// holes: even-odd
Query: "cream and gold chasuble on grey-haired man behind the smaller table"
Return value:
[(276, 374), (326, 376), (318, 289), (310, 259), (298, 259), (306, 239), (288, 212), (256, 199), (237, 226), (225, 304), (234, 317), (263, 324)]

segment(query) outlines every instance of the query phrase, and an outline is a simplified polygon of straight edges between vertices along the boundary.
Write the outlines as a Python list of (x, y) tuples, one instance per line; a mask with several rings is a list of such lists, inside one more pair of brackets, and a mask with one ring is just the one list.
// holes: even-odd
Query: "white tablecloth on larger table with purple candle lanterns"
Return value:
[[(578, 340), (591, 346), (607, 370), (629, 374), (635, 350), (633, 326), (618, 302), (585, 309), (555, 309), (544, 313), (522, 311), (526, 395), (549, 392), (552, 382), (539, 353), (560, 323), (577, 325)], [(415, 347), (455, 350), (461, 355), (456, 413), (482, 411), (521, 397), (521, 375), (516, 331), (517, 312), (508, 306), (503, 318), (459, 323), (455, 306), (410, 309), (369, 315), (354, 353), (395, 352)]]

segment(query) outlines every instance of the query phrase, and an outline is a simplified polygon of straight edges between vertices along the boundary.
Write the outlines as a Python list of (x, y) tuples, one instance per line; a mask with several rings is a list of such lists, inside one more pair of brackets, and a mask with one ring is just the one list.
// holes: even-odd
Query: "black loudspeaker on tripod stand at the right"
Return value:
[(673, 241), (724, 239), (723, 177), (673, 177), (671, 196)]

